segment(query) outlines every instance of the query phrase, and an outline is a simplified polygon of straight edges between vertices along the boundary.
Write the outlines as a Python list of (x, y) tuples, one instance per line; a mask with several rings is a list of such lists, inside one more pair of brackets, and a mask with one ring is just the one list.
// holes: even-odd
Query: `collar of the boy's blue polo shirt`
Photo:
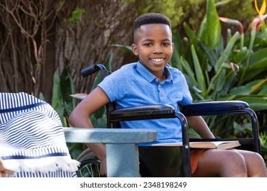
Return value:
[[(168, 65), (168, 64), (167, 64)], [(169, 65), (168, 65), (169, 66)], [(140, 63), (140, 61), (138, 61), (137, 65), (136, 65), (136, 70), (144, 77), (146, 78), (150, 83), (155, 80), (155, 76), (153, 74), (151, 74), (151, 72), (149, 72), (149, 70), (147, 70), (147, 68), (144, 67), (144, 65), (142, 65), (142, 63)], [(170, 81), (171, 83), (173, 83), (173, 76), (170, 73), (170, 70), (168, 70), (168, 67), (165, 66), (164, 68), (164, 74), (167, 76), (166, 81)]]

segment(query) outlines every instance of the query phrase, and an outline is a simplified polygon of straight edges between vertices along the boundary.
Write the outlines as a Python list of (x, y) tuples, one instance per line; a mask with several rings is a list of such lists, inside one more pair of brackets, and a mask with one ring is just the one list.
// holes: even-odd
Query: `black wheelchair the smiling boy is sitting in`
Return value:
[[(104, 65), (96, 63), (81, 70), (86, 77), (95, 72), (101, 72), (101, 79), (111, 74)], [(260, 153), (257, 115), (242, 101), (199, 102), (183, 106), (181, 112), (175, 111), (166, 104), (138, 106), (133, 108), (116, 109), (114, 102), (105, 106), (107, 113), (107, 128), (120, 128), (120, 121), (177, 118), (181, 121), (182, 145), (179, 147), (139, 147), (141, 177), (190, 177), (190, 141), (235, 141), (240, 142), (238, 149)], [(207, 115), (249, 115), (251, 121), (251, 138), (189, 138), (186, 116)], [(155, 156), (162, 158), (164, 164)], [(175, 156), (175, 160), (166, 160)], [(176, 157), (181, 156), (181, 157)], [(77, 158), (81, 162), (78, 177), (100, 177), (100, 161), (88, 148)]]

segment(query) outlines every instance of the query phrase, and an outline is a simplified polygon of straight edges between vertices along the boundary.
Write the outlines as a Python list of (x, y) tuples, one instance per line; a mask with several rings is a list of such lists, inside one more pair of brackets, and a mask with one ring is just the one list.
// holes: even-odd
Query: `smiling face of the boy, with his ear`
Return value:
[(173, 55), (174, 44), (170, 27), (164, 24), (142, 25), (134, 33), (133, 54), (152, 74), (162, 78), (163, 70)]

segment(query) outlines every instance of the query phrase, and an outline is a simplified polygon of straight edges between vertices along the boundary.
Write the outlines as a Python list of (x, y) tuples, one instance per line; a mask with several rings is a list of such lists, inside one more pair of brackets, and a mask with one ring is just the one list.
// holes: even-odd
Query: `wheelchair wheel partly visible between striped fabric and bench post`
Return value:
[(77, 160), (81, 163), (77, 177), (100, 177), (100, 160), (90, 149), (84, 150)]

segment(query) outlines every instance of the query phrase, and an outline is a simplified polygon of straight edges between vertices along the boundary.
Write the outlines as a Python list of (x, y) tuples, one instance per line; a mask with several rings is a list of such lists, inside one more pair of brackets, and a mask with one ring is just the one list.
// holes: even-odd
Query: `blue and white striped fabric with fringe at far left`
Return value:
[(8, 177), (75, 177), (79, 166), (68, 153), (58, 113), (23, 92), (0, 93), (0, 158), (16, 172)]

